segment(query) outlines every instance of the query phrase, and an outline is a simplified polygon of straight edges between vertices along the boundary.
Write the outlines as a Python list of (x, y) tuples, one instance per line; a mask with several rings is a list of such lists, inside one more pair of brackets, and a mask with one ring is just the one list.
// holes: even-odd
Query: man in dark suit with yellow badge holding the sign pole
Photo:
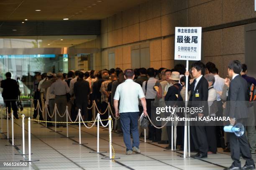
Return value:
[[(202, 107), (202, 113), (195, 113), (192, 117), (203, 117), (208, 115), (208, 82), (203, 77), (205, 74), (205, 65), (197, 61), (192, 65), (192, 75), (195, 77), (195, 80), (189, 86), (191, 89), (190, 97), (189, 97), (189, 105), (192, 107)], [(186, 72), (186, 75), (189, 75), (189, 72)], [(197, 122), (200, 125), (195, 124), (192, 125), (190, 128), (191, 136), (193, 143), (195, 145), (195, 150), (198, 153), (194, 156), (194, 158), (207, 158), (208, 152), (208, 143), (206, 138), (205, 126), (202, 124), (203, 122)]]

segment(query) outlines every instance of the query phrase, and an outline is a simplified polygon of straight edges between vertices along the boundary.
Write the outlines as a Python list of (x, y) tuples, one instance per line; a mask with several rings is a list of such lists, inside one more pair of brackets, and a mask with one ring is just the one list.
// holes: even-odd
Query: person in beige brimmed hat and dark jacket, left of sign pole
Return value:
[[(173, 71), (171, 76), (168, 77), (168, 81), (172, 84), (168, 88), (168, 91), (164, 97), (164, 101), (166, 102), (166, 105), (169, 105), (173, 107), (175, 105), (175, 101), (177, 101), (181, 96), (180, 96), (180, 90), (181, 90), (181, 85), (179, 84), (179, 72)], [(166, 149), (172, 149), (171, 144), (172, 144), (172, 127), (171, 126), (166, 126), (167, 128), (167, 135), (168, 135), (168, 140), (169, 140), (169, 146), (166, 147)]]

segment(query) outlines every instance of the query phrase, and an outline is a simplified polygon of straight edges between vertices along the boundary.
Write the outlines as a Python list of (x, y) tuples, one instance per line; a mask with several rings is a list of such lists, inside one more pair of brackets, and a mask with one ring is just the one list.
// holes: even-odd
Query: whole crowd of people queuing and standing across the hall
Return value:
[[(246, 126), (247, 133), (239, 138), (232, 133), (224, 133), (223, 125), (191, 126), (191, 152), (197, 153), (194, 158), (207, 158), (208, 154), (216, 154), (217, 148), (221, 147), (224, 152), (231, 152), (234, 162), (230, 169), (241, 168), (240, 152), (246, 159), (244, 168), (255, 168), (251, 158), (251, 154), (254, 154), (256, 150), (253, 104), (228, 102), (251, 101), (249, 103), (253, 103), (255, 100), (256, 80), (246, 75), (246, 64), (242, 65), (238, 60), (229, 63), (228, 77), (225, 78), (219, 76), (218, 68), (214, 63), (204, 64), (200, 61), (194, 62), (187, 72), (184, 65), (177, 64), (172, 69), (159, 68), (158, 70), (138, 68), (123, 71), (120, 68), (112, 68), (90, 70), (90, 72), (70, 70), (68, 73), (58, 72), (57, 74), (35, 73), (34, 105), (36, 106), (39, 101), (41, 107), (44, 107), (46, 103), (51, 114), (54, 112), (55, 104), (61, 115), (68, 106), (72, 120), (75, 120), (77, 110), (80, 109), (83, 120), (87, 121), (93, 119), (92, 110), (87, 109), (92, 106), (93, 101), (96, 102), (100, 112), (104, 112), (110, 103), (111, 109), (115, 112), (115, 118), (120, 117), (117, 120), (117, 130), (123, 133), (127, 155), (131, 155), (133, 151), (140, 153), (139, 136), (143, 135), (146, 135), (152, 143), (168, 144), (166, 149), (171, 149), (172, 130), (170, 126), (158, 129), (149, 124), (147, 134), (143, 134), (143, 131), (138, 134), (138, 117), (142, 112), (144, 115), (154, 117), (156, 113), (152, 108), (155, 105), (164, 107), (165, 103), (169, 105), (169, 102), (185, 101), (187, 88), (190, 102), (207, 102), (203, 112), (194, 114), (192, 117), (222, 117), (225, 115), (231, 118), (231, 125), (237, 122), (246, 125), (246, 120), (250, 121), (251, 125)], [(6, 107), (10, 108), (11, 105), (15, 117), (18, 118), (15, 103), (10, 100), (17, 99), (18, 90), (13, 89), (17, 89), (18, 86), (14, 85), (15, 80), (12, 81), (10, 77), (10, 72), (7, 72), (6, 80), (1, 82), (3, 98)], [(186, 87), (187, 77), (188, 87)], [(50, 120), (50, 117), (45, 117), (44, 111), (39, 110), (39, 120)], [(10, 113), (10, 109), (8, 112)], [(33, 118), (36, 118), (37, 114), (38, 110), (34, 110)], [(107, 119), (108, 114), (101, 116), (102, 119)], [(57, 121), (64, 120), (57, 116)], [(59, 126), (65, 126), (65, 124), (58, 124)], [(132, 143), (130, 133), (133, 135)], [(181, 150), (183, 150), (183, 143), (184, 126), (178, 125), (177, 145)]]

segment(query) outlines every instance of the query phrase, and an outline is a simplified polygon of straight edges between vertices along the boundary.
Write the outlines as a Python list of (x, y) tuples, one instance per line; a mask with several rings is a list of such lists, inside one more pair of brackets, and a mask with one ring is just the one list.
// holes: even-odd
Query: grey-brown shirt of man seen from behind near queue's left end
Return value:
[(67, 82), (61, 79), (56, 80), (50, 87), (50, 93), (54, 95), (66, 95), (69, 92), (69, 86)]

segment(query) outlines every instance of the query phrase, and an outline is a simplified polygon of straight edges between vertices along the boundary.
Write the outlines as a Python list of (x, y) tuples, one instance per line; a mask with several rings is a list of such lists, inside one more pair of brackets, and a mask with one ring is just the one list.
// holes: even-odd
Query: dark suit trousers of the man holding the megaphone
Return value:
[[(246, 126), (246, 119), (237, 119), (237, 123), (241, 123)], [(254, 165), (254, 161), (251, 158), (250, 147), (246, 138), (246, 132), (241, 136), (237, 137), (234, 133), (230, 133), (230, 152), (231, 158), (234, 161), (232, 165), (234, 167), (241, 168), (240, 152), (243, 159), (246, 160), (246, 165)]]

